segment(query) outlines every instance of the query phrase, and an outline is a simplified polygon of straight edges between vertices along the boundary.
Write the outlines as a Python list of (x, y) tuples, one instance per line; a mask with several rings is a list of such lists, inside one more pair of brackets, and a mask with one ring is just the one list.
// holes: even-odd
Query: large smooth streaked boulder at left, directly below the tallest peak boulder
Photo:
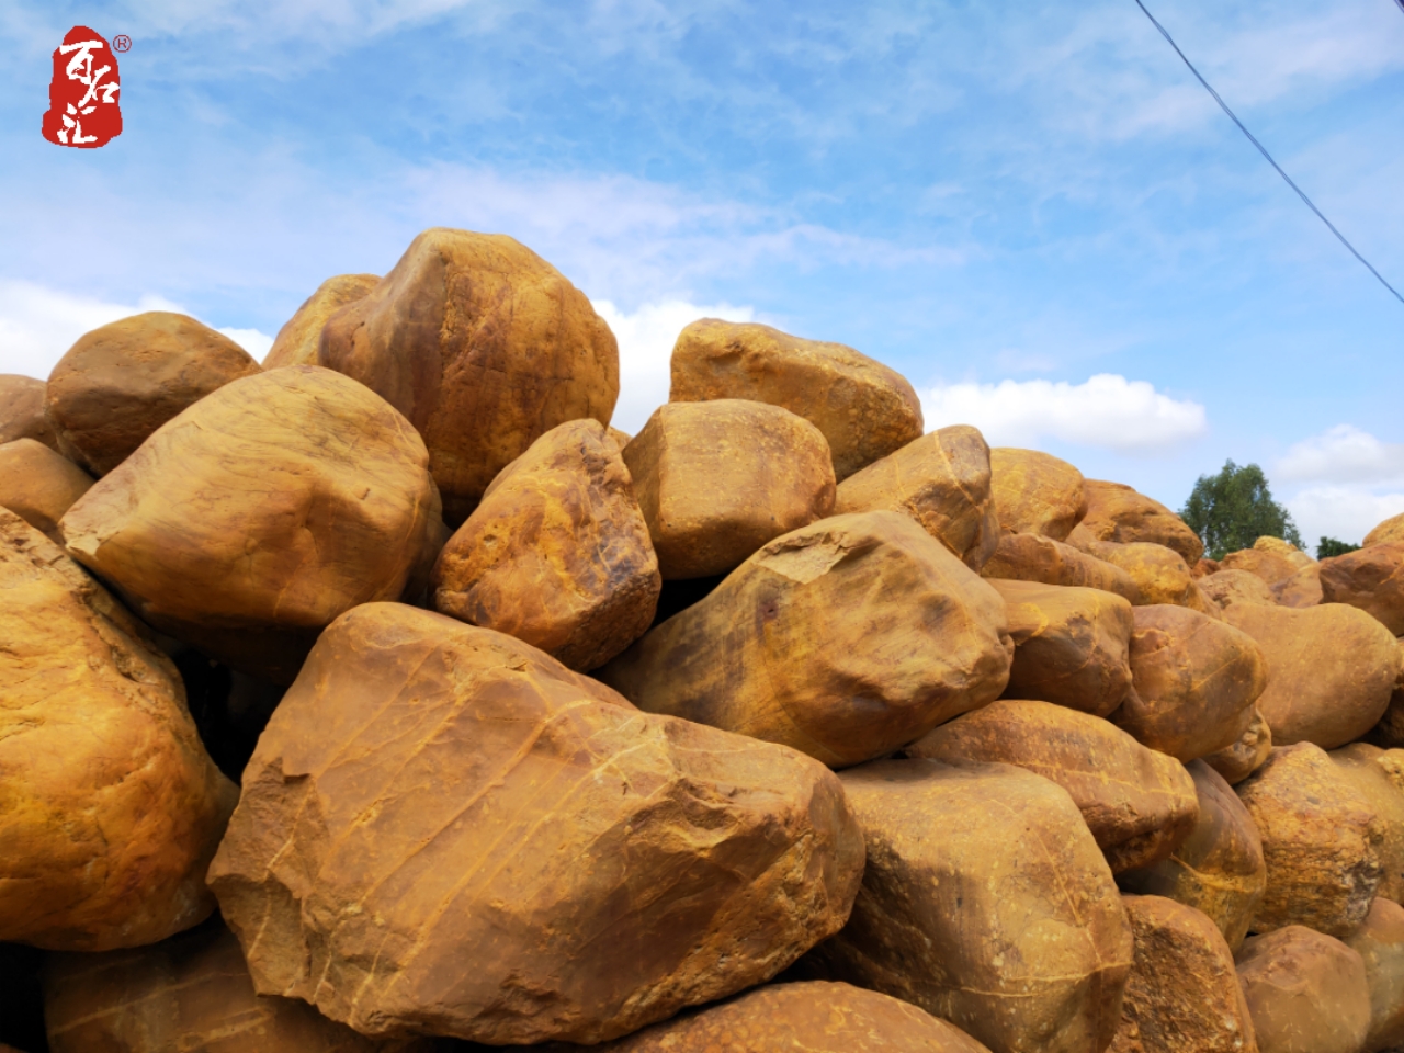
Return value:
[(326, 625), (399, 598), (442, 543), (418, 435), (316, 366), (220, 388), (88, 490), (62, 529), (147, 622), (282, 684)]

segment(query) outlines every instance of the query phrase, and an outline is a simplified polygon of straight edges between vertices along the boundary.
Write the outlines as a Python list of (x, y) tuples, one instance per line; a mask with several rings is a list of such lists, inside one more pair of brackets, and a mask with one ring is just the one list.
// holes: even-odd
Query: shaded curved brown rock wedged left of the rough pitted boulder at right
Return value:
[(1191, 761), (1186, 768), (1199, 800), (1189, 837), (1168, 859), (1127, 870), (1116, 880), (1127, 892), (1193, 907), (1237, 951), (1268, 885), (1262, 838), (1248, 809), (1213, 768), (1203, 761)]

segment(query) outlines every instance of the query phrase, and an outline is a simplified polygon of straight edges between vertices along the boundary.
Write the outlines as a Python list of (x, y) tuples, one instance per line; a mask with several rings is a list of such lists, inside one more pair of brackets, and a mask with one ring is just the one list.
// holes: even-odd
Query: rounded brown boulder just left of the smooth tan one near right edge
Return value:
[(1137, 607), (1134, 621), (1134, 691), (1112, 722), (1181, 761), (1238, 741), (1268, 682), (1252, 637), (1184, 607)]

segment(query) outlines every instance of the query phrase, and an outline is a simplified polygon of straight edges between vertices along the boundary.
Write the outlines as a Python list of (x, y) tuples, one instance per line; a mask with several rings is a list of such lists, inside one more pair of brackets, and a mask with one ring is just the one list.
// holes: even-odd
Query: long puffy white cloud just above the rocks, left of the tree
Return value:
[(1171, 399), (1146, 380), (1098, 373), (1085, 383), (1001, 380), (921, 392), (928, 428), (973, 424), (991, 446), (1054, 438), (1123, 453), (1155, 453), (1207, 430), (1205, 407)]

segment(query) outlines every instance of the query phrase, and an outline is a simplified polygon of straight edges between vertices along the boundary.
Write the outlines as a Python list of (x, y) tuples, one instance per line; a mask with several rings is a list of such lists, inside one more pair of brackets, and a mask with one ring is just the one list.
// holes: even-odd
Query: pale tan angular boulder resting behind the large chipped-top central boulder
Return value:
[(840, 484), (835, 514), (879, 510), (910, 515), (979, 573), (1000, 542), (984, 438), (967, 424), (941, 428)]

